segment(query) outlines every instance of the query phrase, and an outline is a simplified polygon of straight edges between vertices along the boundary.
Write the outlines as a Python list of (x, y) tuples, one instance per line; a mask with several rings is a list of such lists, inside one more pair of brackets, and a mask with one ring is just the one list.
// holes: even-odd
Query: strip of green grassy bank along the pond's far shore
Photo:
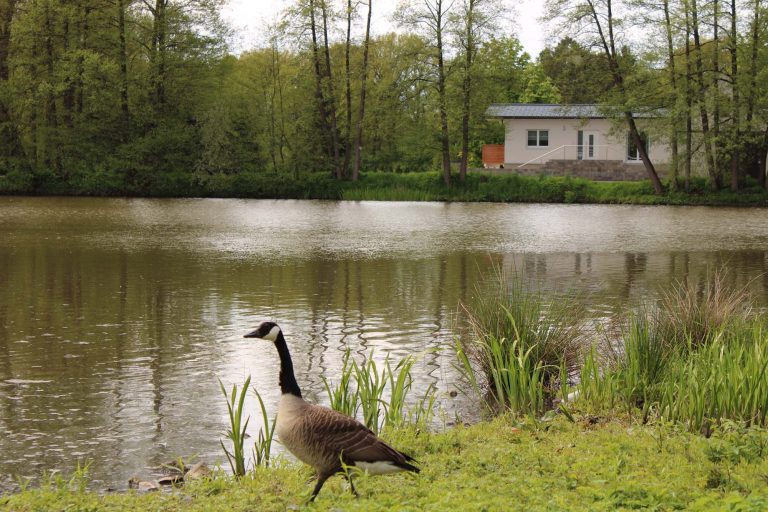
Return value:
[(285, 175), (243, 172), (194, 176), (158, 172), (141, 182), (115, 172), (70, 176), (0, 177), (0, 194), (235, 197), (377, 201), (546, 202), (670, 205), (768, 205), (768, 192), (751, 185), (738, 193), (712, 193), (696, 179), (689, 192), (655, 195), (646, 182), (595, 182), (567, 177), (472, 173), (447, 187), (438, 173), (366, 173), (339, 182), (325, 173)]

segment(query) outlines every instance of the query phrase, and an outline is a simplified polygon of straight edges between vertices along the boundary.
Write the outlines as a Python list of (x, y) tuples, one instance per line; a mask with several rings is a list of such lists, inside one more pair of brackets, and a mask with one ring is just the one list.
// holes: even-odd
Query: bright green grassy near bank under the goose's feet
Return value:
[[(309, 510), (765, 510), (768, 433), (723, 428), (706, 439), (664, 425), (595, 416), (516, 423), (508, 416), (441, 434), (389, 439), (419, 459), (419, 475), (340, 477)], [(170, 493), (100, 496), (61, 483), (0, 498), (0, 509), (285, 510), (308, 497), (306, 467), (283, 461), (235, 481)]]

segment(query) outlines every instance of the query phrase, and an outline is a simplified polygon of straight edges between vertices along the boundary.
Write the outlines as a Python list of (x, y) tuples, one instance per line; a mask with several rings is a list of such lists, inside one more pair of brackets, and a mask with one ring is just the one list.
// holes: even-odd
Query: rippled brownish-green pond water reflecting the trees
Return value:
[[(459, 301), (493, 265), (594, 315), (719, 267), (768, 303), (768, 210), (265, 200), (0, 198), (0, 488), (91, 460), (94, 487), (178, 456), (222, 460), (217, 379), (251, 374), (276, 411), (278, 321), (323, 402), (344, 350), (422, 354), (461, 411)], [(251, 433), (257, 432), (256, 405)]]

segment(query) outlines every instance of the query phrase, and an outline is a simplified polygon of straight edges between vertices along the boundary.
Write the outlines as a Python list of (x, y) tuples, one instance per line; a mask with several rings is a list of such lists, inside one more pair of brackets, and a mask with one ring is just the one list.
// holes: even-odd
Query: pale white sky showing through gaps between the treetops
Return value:
[[(372, 31), (381, 34), (394, 30), (390, 21), (399, 0), (374, 0)], [(224, 17), (236, 32), (236, 49), (247, 50), (259, 46), (264, 25), (272, 21), (293, 0), (229, 0), (224, 8)], [(511, 0), (506, 0), (511, 3)], [(513, 21), (502, 22), (503, 34), (515, 34), (525, 50), (534, 59), (545, 46), (545, 27), (538, 18), (544, 10), (543, 0), (517, 0), (517, 15), (510, 14)]]

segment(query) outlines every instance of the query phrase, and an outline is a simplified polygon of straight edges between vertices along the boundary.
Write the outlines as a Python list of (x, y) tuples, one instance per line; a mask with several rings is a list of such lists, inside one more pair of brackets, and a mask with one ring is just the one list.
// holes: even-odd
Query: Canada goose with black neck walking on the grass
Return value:
[[(292, 454), (317, 472), (313, 501), (328, 478), (343, 472), (342, 463), (370, 474), (419, 472), (410, 464), (416, 462), (376, 437), (354, 418), (327, 407), (313, 405), (301, 397), (301, 389), (293, 373), (293, 362), (283, 331), (273, 322), (263, 322), (246, 338), (271, 341), (280, 355), (280, 404), (277, 410), (277, 437)], [(357, 491), (348, 478), (352, 493)]]

